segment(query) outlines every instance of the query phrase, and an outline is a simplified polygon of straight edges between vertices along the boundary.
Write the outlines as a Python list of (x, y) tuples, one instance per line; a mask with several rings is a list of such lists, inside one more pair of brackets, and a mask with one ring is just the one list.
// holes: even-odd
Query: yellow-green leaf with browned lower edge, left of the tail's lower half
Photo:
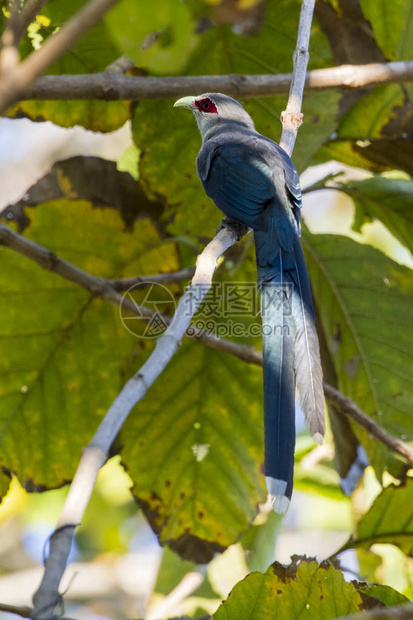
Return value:
[(133, 493), (161, 544), (186, 559), (209, 561), (265, 501), (261, 374), (184, 342), (122, 430)]

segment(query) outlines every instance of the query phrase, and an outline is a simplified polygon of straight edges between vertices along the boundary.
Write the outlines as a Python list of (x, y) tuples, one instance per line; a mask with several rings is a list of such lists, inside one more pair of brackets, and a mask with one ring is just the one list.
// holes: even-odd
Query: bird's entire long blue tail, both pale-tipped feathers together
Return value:
[[(324, 393), (310, 283), (298, 234), (289, 251), (255, 231), (264, 362), (264, 469), (274, 510), (288, 509), (294, 475), (295, 388), (310, 432), (324, 435)], [(278, 246), (278, 249), (277, 249)]]

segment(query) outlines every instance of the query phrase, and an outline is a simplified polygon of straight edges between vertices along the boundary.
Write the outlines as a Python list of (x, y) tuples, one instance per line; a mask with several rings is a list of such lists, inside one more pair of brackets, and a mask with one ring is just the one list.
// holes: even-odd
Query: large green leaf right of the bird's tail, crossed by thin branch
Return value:
[[(396, 437), (413, 437), (412, 272), (346, 237), (305, 234), (303, 246), (340, 391)], [(389, 455), (352, 426), (380, 479)]]

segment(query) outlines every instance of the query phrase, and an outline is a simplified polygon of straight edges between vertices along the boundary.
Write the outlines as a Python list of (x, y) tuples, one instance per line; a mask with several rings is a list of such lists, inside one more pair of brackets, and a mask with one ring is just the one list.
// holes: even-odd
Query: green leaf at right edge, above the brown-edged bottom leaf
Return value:
[(413, 478), (389, 485), (376, 497), (357, 524), (357, 532), (340, 551), (374, 544), (391, 544), (413, 556)]

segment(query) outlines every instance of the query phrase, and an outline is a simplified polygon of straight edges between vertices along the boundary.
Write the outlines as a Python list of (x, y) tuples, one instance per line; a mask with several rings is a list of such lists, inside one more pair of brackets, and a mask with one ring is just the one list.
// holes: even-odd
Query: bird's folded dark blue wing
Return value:
[(199, 153), (197, 170), (207, 195), (225, 215), (251, 228), (260, 227), (276, 189), (271, 168), (257, 150), (230, 140), (209, 141)]

